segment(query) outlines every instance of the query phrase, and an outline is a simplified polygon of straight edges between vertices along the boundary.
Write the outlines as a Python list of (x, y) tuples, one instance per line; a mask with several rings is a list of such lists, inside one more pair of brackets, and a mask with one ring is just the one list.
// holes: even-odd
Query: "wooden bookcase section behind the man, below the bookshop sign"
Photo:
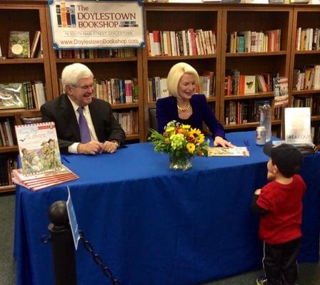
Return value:
[[(47, 19), (49, 19), (49, 10), (46, 10)], [(49, 35), (49, 43), (52, 42), (51, 26), (48, 22), (47, 33)], [(74, 50), (70, 51), (71, 53)], [(109, 53), (108, 53), (109, 54)], [(51, 78), (52, 78), (52, 93), (53, 97), (58, 97), (62, 92), (59, 88), (59, 80), (61, 72), (65, 66), (71, 63), (84, 63), (88, 66), (96, 81), (105, 81), (109, 78), (117, 79), (131, 79), (136, 78), (136, 85), (138, 88), (137, 102), (134, 103), (111, 103), (114, 113), (120, 113), (123, 117), (129, 114), (131, 125), (134, 125), (135, 130), (126, 131), (126, 123), (121, 126), (126, 131), (126, 142), (140, 142), (144, 140), (144, 98), (142, 92), (142, 52), (141, 49), (134, 49), (133, 56), (119, 56), (111, 57), (105, 56), (98, 58), (96, 56), (86, 56), (87, 58), (59, 58), (54, 48), (49, 46), (49, 58), (51, 63)], [(97, 92), (97, 88), (95, 88)], [(134, 115), (131, 115), (134, 113)], [(116, 114), (115, 114), (116, 115)], [(117, 115), (116, 115), (117, 117)], [(134, 118), (133, 118), (134, 117)], [(121, 123), (121, 122), (119, 122)], [(130, 125), (130, 124), (129, 124)]]

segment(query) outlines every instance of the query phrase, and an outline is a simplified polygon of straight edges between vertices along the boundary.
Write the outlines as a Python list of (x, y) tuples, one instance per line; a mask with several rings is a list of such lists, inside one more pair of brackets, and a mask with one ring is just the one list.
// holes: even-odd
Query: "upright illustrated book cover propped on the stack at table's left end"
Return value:
[(16, 125), (24, 175), (61, 169), (61, 156), (54, 122)]

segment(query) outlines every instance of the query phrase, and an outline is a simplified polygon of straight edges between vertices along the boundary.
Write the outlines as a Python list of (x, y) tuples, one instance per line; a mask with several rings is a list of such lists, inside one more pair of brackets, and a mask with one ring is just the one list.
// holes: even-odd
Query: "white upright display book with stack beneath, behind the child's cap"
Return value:
[(311, 138), (310, 108), (284, 108), (284, 140), (273, 141), (273, 145), (289, 143), (297, 147), (303, 154), (317, 152)]

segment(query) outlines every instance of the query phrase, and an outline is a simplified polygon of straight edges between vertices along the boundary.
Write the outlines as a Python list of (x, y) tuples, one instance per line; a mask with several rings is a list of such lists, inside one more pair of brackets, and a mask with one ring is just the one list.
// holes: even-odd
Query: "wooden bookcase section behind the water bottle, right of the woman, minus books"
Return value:
[[(291, 52), (291, 25), (293, 9), (289, 5), (236, 5), (223, 8), (222, 46), (221, 46), (221, 76), (226, 76), (227, 70), (238, 70), (244, 75), (258, 75), (262, 73), (279, 73), (279, 76), (289, 77), (289, 63)], [(243, 52), (230, 53), (227, 50), (227, 40), (232, 31), (270, 31), (281, 30), (281, 44), (279, 51), (272, 52)], [(222, 77), (224, 78), (224, 77)], [(225, 125), (226, 102), (232, 104), (246, 102), (252, 104), (257, 100), (269, 100), (274, 110), (274, 92), (259, 92), (250, 95), (224, 95), (224, 81), (220, 82), (220, 121), (226, 130), (244, 130), (256, 128), (259, 122), (236, 123)], [(231, 101), (230, 101), (231, 100)], [(245, 101), (244, 101), (245, 100)], [(231, 105), (231, 104), (230, 104)], [(237, 109), (237, 113), (239, 109)], [(250, 112), (250, 111), (249, 111)], [(276, 128), (280, 133), (281, 120), (272, 118), (273, 130)]]

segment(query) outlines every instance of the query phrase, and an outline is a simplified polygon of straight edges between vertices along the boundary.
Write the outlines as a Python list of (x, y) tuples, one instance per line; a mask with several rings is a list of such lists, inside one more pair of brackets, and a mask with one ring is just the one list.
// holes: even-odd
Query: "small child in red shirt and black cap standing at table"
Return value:
[(261, 215), (259, 236), (264, 241), (265, 276), (257, 285), (296, 285), (296, 257), (301, 243), (302, 197), (306, 185), (296, 172), (303, 164), (303, 155), (294, 146), (283, 143), (264, 146), (269, 156), (268, 180), (254, 192), (251, 209)]

